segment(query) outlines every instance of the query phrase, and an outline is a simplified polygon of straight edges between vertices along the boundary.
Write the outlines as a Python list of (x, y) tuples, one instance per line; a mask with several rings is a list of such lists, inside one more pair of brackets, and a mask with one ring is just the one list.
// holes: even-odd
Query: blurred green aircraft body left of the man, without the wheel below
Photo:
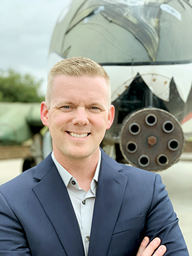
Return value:
[(40, 103), (0, 102), (0, 143), (20, 145), (42, 128)]

